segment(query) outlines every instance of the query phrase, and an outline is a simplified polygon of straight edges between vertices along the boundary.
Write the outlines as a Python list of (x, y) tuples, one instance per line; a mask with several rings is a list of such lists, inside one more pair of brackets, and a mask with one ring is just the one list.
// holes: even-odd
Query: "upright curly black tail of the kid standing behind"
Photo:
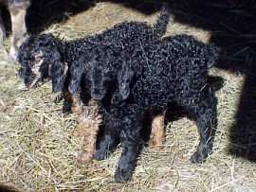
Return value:
[(156, 20), (154, 30), (155, 34), (159, 37), (163, 36), (166, 31), (166, 27), (169, 23), (170, 17), (170, 5), (167, 2), (164, 2), (162, 5), (161, 13)]

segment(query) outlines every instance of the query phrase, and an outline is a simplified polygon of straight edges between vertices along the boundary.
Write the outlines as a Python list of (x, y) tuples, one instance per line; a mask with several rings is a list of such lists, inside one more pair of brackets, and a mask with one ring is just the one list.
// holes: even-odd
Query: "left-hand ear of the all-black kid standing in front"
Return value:
[(82, 73), (81, 65), (77, 65), (76, 63), (74, 63), (70, 67), (70, 74), (71, 74), (71, 77), (69, 80), (68, 92), (70, 94), (74, 94), (78, 91), (80, 84), (81, 84), (81, 80), (82, 80), (83, 73)]

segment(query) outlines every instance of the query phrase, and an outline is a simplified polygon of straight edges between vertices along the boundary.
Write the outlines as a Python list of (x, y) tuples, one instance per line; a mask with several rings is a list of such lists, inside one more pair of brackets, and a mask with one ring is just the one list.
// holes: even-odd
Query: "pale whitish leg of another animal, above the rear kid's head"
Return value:
[(18, 5), (18, 3), (9, 5), (12, 32), (9, 56), (14, 61), (17, 60), (18, 47), (23, 43), (27, 35), (26, 12), (28, 6), (29, 1), (23, 5)]

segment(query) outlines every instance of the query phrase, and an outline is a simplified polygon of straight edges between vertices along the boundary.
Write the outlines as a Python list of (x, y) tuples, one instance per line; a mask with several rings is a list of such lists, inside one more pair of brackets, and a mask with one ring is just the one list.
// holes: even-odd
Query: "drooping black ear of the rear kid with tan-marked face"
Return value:
[(52, 63), (50, 66), (50, 77), (52, 81), (52, 92), (62, 91), (68, 66), (60, 50), (55, 49), (52, 53)]

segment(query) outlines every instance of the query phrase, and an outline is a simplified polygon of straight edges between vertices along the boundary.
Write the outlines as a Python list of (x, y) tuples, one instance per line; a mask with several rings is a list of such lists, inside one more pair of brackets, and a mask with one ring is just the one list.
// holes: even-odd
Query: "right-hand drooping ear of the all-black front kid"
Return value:
[(133, 76), (132, 70), (123, 63), (118, 74), (120, 100), (125, 100), (130, 95), (130, 83)]

